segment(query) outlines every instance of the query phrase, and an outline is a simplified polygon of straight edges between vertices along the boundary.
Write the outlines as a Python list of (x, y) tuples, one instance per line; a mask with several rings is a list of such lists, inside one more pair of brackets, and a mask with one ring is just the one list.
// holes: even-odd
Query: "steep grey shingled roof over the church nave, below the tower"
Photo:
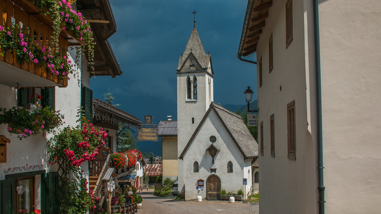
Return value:
[(220, 119), (220, 121), (222, 122), (222, 124), (224, 125), (226, 130), (229, 132), (230, 136), (232, 137), (234, 143), (237, 145), (238, 149), (242, 152), (243, 156), (245, 158), (257, 157), (258, 143), (255, 141), (253, 135), (250, 133), (249, 129), (243, 123), (241, 116), (234, 113), (233, 111), (230, 111), (212, 102), (211, 105), (209, 106), (208, 111), (205, 113), (200, 124), (197, 126), (191, 139), (189, 140), (188, 144), (185, 146), (179, 158), (181, 159), (184, 158), (186, 151), (191, 146), (191, 143), (193, 142), (195, 136), (201, 129), (202, 125), (204, 124), (211, 110), (215, 111), (218, 118)]

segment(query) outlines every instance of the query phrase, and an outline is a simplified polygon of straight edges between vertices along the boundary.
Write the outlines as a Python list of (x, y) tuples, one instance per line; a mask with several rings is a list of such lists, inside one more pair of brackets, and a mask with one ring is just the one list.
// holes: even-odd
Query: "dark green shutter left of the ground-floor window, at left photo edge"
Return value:
[(15, 213), (15, 180), (0, 181), (0, 214)]

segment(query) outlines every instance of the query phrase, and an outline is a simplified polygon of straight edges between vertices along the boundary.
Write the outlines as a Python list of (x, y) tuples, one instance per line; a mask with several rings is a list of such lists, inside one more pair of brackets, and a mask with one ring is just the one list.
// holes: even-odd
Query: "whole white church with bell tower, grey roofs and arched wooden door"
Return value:
[[(198, 195), (216, 200), (222, 189), (252, 193), (258, 144), (240, 115), (213, 102), (212, 59), (205, 53), (195, 21), (176, 71), (179, 193), (185, 193), (185, 200)], [(163, 170), (164, 161), (163, 155)]]

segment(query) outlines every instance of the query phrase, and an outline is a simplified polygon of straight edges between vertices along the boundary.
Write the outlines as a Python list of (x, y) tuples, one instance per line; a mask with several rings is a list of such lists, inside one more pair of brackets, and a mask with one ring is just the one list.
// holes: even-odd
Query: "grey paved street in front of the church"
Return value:
[(178, 201), (174, 196), (158, 197), (153, 195), (153, 190), (140, 193), (143, 197), (142, 206), (138, 214), (254, 214), (250, 203), (243, 204), (227, 201)]

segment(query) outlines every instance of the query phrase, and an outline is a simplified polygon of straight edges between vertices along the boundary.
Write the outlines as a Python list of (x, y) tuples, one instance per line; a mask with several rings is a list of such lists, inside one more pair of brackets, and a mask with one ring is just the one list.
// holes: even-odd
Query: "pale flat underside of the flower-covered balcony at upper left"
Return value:
[(0, 84), (10, 87), (63, 86), (60, 82), (56, 83), (2, 61), (0, 61)]

